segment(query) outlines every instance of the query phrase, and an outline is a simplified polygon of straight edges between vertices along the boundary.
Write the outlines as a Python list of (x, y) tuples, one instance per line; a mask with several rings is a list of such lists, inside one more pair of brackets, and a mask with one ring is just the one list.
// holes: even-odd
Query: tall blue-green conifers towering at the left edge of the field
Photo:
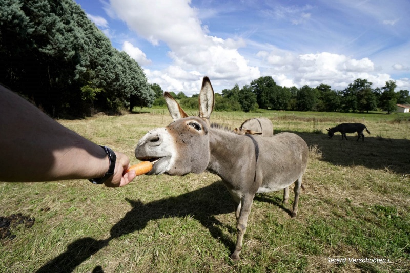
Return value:
[(137, 62), (113, 48), (72, 0), (4, 0), (0, 59), (0, 82), (54, 116), (154, 101)]

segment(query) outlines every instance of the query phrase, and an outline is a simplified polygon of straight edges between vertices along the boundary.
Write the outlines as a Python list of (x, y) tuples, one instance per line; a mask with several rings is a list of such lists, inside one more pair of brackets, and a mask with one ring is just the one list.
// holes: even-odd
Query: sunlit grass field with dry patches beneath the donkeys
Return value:
[[(35, 218), (0, 240), (0, 272), (410, 271), (410, 116), (214, 112), (211, 121), (235, 128), (260, 115), (275, 133), (294, 132), (310, 146), (306, 192), (295, 219), (292, 191), (289, 205), (282, 191), (255, 197), (239, 262), (228, 257), (233, 203), (206, 172), (140, 176), (115, 189), (86, 180), (0, 182), (0, 216)], [(132, 163), (138, 139), (171, 121), (166, 109), (59, 120)], [(325, 128), (341, 122), (364, 123), (371, 135), (328, 139)]]

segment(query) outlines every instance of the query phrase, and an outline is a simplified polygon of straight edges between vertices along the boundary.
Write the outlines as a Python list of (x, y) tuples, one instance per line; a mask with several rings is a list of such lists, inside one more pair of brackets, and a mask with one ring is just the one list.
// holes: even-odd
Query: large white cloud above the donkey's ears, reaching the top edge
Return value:
[[(222, 39), (207, 35), (208, 27), (202, 25), (197, 10), (190, 6), (189, 0), (158, 0), (153, 3), (151, 0), (110, 1), (111, 10), (115, 11), (116, 16), (124, 20), (130, 29), (152, 45), (163, 42), (170, 48), (168, 57), (172, 59), (172, 65), (160, 72), (146, 71), (150, 81), (158, 84), (162, 82), (162, 89), (168, 91), (183, 91), (181, 88), (189, 88), (184, 92), (190, 95), (198, 92), (200, 83), (196, 83), (204, 75), (211, 78), (214, 87), (221, 88), (232, 88), (232, 81), (244, 85), (260, 77), (259, 68), (250, 66), (238, 52), (239, 48), (246, 46), (244, 39)], [(162, 75), (159, 75), (160, 73)], [(198, 77), (197, 74), (201, 76)], [(177, 84), (176, 81), (189, 83)], [(228, 81), (229, 86), (223, 87), (222, 82)], [(196, 87), (193, 90), (192, 83)], [(175, 90), (172, 90), (173, 88)]]

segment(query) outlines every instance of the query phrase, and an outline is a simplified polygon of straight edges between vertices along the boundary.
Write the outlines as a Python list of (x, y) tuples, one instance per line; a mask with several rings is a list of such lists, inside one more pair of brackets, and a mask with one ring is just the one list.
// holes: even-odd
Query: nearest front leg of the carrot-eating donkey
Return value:
[(234, 261), (240, 260), (239, 253), (242, 250), (243, 235), (247, 230), (248, 217), (251, 212), (253, 197), (253, 194), (248, 194), (241, 200), (240, 213), (236, 221), (236, 246), (234, 252), (230, 256), (230, 258)]

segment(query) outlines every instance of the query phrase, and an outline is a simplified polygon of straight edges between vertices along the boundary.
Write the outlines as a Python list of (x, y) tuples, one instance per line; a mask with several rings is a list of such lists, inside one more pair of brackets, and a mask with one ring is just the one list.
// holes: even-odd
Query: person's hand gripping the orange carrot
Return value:
[(135, 171), (130, 171), (127, 173), (127, 170), (130, 167), (130, 158), (125, 154), (114, 151), (117, 156), (115, 161), (114, 175), (112, 179), (108, 179), (104, 182), (104, 185), (107, 187), (122, 187), (130, 183), (135, 178)]

